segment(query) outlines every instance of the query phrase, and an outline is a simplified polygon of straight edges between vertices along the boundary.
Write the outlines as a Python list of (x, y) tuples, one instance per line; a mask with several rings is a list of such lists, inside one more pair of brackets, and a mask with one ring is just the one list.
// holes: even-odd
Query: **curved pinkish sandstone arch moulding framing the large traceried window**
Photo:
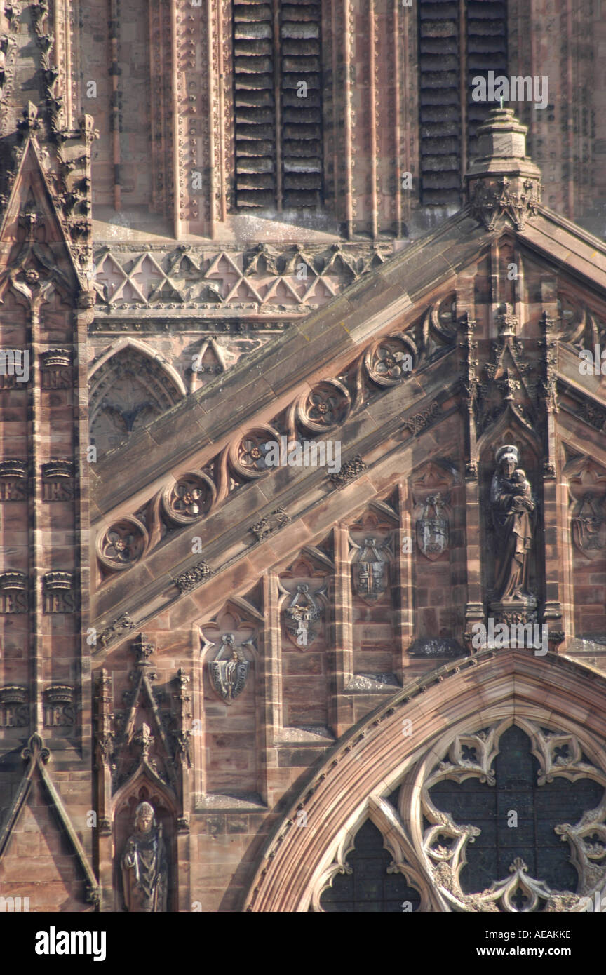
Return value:
[[(438, 889), (424, 853), (423, 816), (414, 814), (414, 803), (420, 801), (421, 783), (444, 761), (458, 736), (495, 725), (502, 731), (503, 722), (513, 722), (513, 716), (516, 724), (525, 722), (533, 729), (533, 749), (542, 763), (542, 774), (579, 775), (606, 782), (601, 745), (606, 739), (605, 678), (551, 652), (538, 658), (524, 650), (482, 651), (459, 658), (403, 687), (328, 753), (277, 824), (250, 884), (244, 910), (322, 910), (322, 890), (345, 866), (353, 837), (367, 816), (384, 839), (389, 836), (391, 845), (386, 845), (398, 855), (395, 862), (405, 867), (410, 885), (419, 889), (422, 911), (484, 910), (471, 904), (457, 908)], [(547, 736), (542, 732), (540, 742), (536, 728), (557, 729), (556, 737), (549, 737), (553, 731)], [(562, 739), (558, 747), (565, 740), (572, 745), (566, 765), (556, 761), (563, 755), (555, 755), (558, 737)], [(486, 755), (484, 773), (490, 767), (488, 759)], [(467, 771), (477, 774), (477, 770)], [(387, 799), (402, 783), (397, 815), (396, 810), (390, 812), (393, 807)], [(301, 811), (306, 813), (306, 829), (297, 828)], [(378, 820), (381, 811), (385, 818)], [(601, 830), (603, 811), (600, 805), (598, 810), (587, 810), (587, 821), (561, 824), (560, 835), (571, 842), (571, 850), (581, 851), (587, 845), (583, 840), (586, 828), (593, 841), (593, 833)], [(522, 864), (515, 870), (524, 878)], [(540, 887), (541, 881), (533, 882)], [(604, 885), (597, 877), (595, 882), (594, 889)], [(583, 882), (579, 894), (587, 896)], [(589, 910), (580, 903), (573, 909)], [(550, 910), (569, 908), (560, 904)]]

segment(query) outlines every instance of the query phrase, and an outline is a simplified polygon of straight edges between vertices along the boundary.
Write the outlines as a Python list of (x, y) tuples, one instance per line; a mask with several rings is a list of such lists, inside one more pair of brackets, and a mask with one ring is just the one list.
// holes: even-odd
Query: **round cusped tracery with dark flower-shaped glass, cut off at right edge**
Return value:
[(445, 910), (591, 910), (606, 880), (606, 773), (576, 735), (526, 720), (459, 735), (419, 801), (423, 866)]

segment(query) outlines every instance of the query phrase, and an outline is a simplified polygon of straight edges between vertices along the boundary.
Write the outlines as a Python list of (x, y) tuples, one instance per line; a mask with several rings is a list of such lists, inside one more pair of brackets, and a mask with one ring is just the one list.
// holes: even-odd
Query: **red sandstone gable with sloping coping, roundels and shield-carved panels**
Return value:
[[(249, 855), (302, 771), (398, 686), (473, 661), (491, 620), (530, 626), (497, 659), (603, 660), (606, 405), (579, 353), (606, 254), (547, 211), (514, 222), (463, 211), (95, 466), (95, 666), (120, 700), (134, 633), (156, 644), (187, 761), (145, 788), (178, 876), (188, 830), (203, 860), (223, 830)], [(513, 474), (514, 553), (494, 517)]]

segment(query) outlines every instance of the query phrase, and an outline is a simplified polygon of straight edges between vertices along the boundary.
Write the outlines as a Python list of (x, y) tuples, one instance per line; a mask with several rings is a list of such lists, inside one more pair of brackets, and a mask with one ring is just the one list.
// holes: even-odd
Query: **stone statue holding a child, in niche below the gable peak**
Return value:
[(493, 599), (533, 599), (528, 592), (528, 567), (532, 546), (531, 515), (535, 510), (530, 483), (517, 467), (517, 448), (497, 450), (497, 469), (490, 487), (490, 506), (495, 529), (495, 582)]

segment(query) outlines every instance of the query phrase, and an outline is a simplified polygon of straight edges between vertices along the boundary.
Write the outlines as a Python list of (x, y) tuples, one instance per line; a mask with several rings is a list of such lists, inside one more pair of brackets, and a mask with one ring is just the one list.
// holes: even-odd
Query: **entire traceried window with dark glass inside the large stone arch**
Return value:
[(606, 887), (606, 771), (578, 735), (507, 719), (437, 754), (390, 796), (368, 797), (324, 861), (310, 910), (594, 910)]

